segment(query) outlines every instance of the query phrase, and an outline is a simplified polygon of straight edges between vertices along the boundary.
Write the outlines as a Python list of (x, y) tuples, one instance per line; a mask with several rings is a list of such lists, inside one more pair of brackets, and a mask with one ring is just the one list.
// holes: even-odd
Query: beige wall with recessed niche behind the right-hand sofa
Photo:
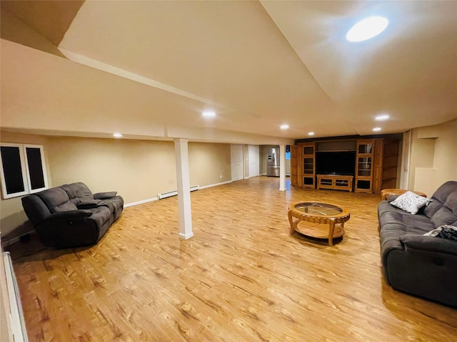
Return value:
[(408, 188), (431, 196), (448, 180), (457, 180), (457, 119), (411, 130)]

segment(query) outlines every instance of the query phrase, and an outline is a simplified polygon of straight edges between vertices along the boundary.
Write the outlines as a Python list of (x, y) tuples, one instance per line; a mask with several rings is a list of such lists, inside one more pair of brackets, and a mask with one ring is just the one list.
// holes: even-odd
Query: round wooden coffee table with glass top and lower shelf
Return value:
[[(347, 209), (323, 202), (293, 203), (288, 207), (287, 214), (288, 222), (291, 224), (291, 234), (299, 232), (308, 237), (328, 239), (328, 246), (333, 246), (333, 238), (343, 236), (344, 222), (351, 217)], [(301, 222), (316, 224), (306, 227), (306, 224), (301, 224)], [(328, 224), (328, 231), (323, 224)], [(340, 225), (335, 227), (335, 224)]]

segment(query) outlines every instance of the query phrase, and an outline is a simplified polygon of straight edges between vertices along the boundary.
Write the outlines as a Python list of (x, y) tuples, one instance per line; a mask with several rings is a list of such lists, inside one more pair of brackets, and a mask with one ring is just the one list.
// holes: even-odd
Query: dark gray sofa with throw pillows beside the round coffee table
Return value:
[(393, 289), (457, 306), (457, 241), (423, 236), (457, 226), (457, 182), (441, 185), (417, 214), (393, 207), (396, 196), (378, 204), (384, 277)]

